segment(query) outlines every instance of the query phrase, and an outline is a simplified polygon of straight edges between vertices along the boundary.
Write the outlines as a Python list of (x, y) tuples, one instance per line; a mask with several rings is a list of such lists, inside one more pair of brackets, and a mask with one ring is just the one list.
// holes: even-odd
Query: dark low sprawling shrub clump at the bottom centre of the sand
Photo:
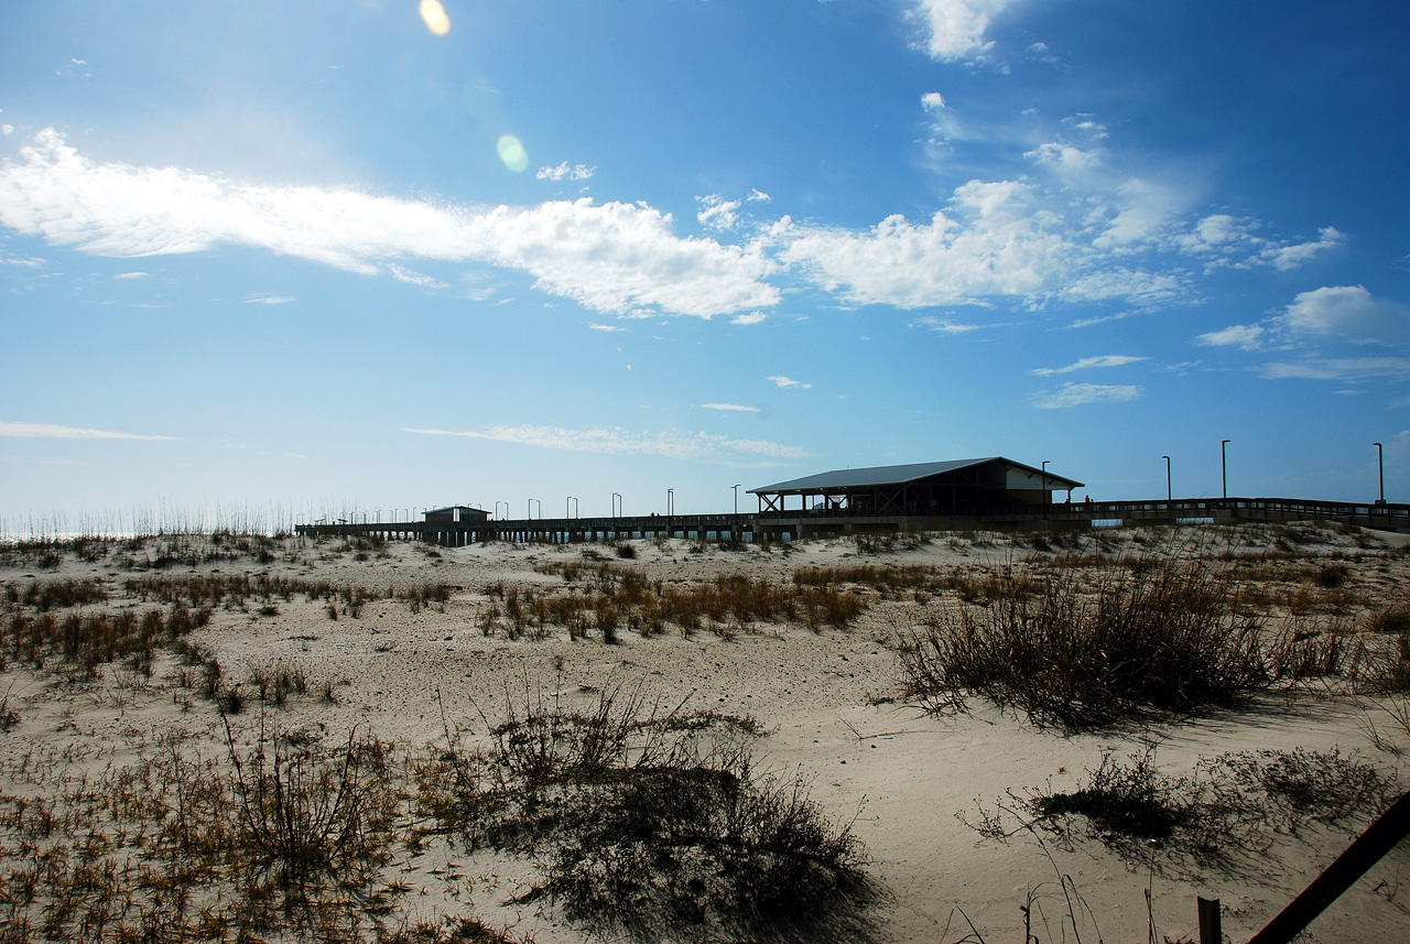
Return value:
[[(637, 690), (588, 713), (510, 703), (492, 745), (423, 768), (430, 819), (467, 845), (534, 855), (547, 896), (601, 931), (816, 940), (871, 896), (847, 826), (799, 781), (757, 774), (750, 719), (663, 712)], [(843, 937), (846, 934), (843, 933)]]

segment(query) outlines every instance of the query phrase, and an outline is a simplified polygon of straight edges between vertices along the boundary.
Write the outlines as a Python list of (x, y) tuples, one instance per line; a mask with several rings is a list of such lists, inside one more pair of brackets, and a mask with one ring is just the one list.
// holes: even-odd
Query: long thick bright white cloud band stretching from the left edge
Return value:
[(777, 304), (763, 247), (678, 238), (671, 216), (591, 199), (464, 207), (355, 190), (255, 186), (178, 168), (97, 163), (45, 130), (0, 165), (0, 223), (118, 258), (255, 245), (354, 272), (423, 258), (489, 262), (613, 314), (711, 317)]

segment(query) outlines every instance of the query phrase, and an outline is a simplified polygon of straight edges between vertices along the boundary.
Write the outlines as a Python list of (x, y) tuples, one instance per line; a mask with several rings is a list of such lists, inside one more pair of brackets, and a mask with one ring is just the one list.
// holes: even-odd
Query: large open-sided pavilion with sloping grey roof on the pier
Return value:
[(1053, 492), (1081, 482), (1001, 455), (984, 459), (912, 462), (836, 469), (749, 489), (761, 514), (784, 513), (797, 496), (801, 510), (857, 516), (971, 516), (1050, 504)]

